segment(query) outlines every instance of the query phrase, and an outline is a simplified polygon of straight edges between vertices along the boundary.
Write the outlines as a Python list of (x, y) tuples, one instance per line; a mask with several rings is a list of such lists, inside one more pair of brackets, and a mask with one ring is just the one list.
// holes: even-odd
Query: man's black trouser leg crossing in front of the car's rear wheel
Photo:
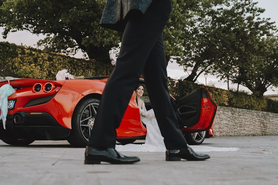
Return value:
[(88, 146), (114, 148), (119, 127), (145, 62), (170, 17), (171, 0), (154, 0), (145, 14), (130, 16), (120, 55), (100, 101)]

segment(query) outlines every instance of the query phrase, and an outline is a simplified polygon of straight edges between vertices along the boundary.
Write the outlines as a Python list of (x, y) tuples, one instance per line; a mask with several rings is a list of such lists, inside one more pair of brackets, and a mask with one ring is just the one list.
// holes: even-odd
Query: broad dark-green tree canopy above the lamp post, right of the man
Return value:
[[(183, 43), (184, 55), (177, 62), (192, 73), (199, 72), (197, 77), (204, 71), (216, 74), (246, 86), (259, 97), (268, 86), (277, 85), (277, 59), (273, 58), (276, 27), (270, 19), (259, 17), (264, 10), (257, 7), (257, 2), (208, 0), (200, 3), (205, 3), (206, 6), (198, 5), (204, 10), (196, 14), (194, 24), (184, 27), (184, 35), (180, 35), (190, 39)], [(267, 58), (272, 60), (266, 61)]]

